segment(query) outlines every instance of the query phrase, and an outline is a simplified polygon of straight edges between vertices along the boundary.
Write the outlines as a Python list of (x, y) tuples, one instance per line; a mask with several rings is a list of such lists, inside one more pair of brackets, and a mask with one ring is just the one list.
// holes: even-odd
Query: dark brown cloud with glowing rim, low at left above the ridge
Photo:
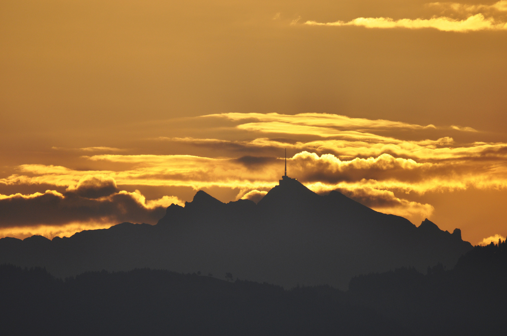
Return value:
[(55, 234), (71, 231), (69, 225), (107, 227), (127, 221), (155, 224), (172, 203), (181, 205), (183, 201), (174, 196), (146, 200), (138, 191), (118, 190), (111, 177), (87, 175), (65, 193), (47, 190), (29, 195), (0, 195), (0, 231), (19, 235), (30, 231), (29, 227), (44, 225), (52, 228), (48, 234)]

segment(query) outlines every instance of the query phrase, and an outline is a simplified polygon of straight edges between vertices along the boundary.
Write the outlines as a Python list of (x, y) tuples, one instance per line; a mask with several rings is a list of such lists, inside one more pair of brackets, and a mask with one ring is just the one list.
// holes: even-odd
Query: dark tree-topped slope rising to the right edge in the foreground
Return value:
[(418, 335), (507, 334), (507, 244), (476, 246), (452, 270), (413, 268), (358, 276), (348, 297)]

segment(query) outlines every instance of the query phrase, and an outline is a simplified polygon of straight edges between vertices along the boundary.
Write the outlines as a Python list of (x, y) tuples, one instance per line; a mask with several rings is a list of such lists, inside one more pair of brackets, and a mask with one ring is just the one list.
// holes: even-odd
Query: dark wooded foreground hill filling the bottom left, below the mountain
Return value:
[(137, 269), (64, 281), (0, 266), (0, 325), (10, 335), (408, 335), (328, 286), (283, 290), (195, 273)]

